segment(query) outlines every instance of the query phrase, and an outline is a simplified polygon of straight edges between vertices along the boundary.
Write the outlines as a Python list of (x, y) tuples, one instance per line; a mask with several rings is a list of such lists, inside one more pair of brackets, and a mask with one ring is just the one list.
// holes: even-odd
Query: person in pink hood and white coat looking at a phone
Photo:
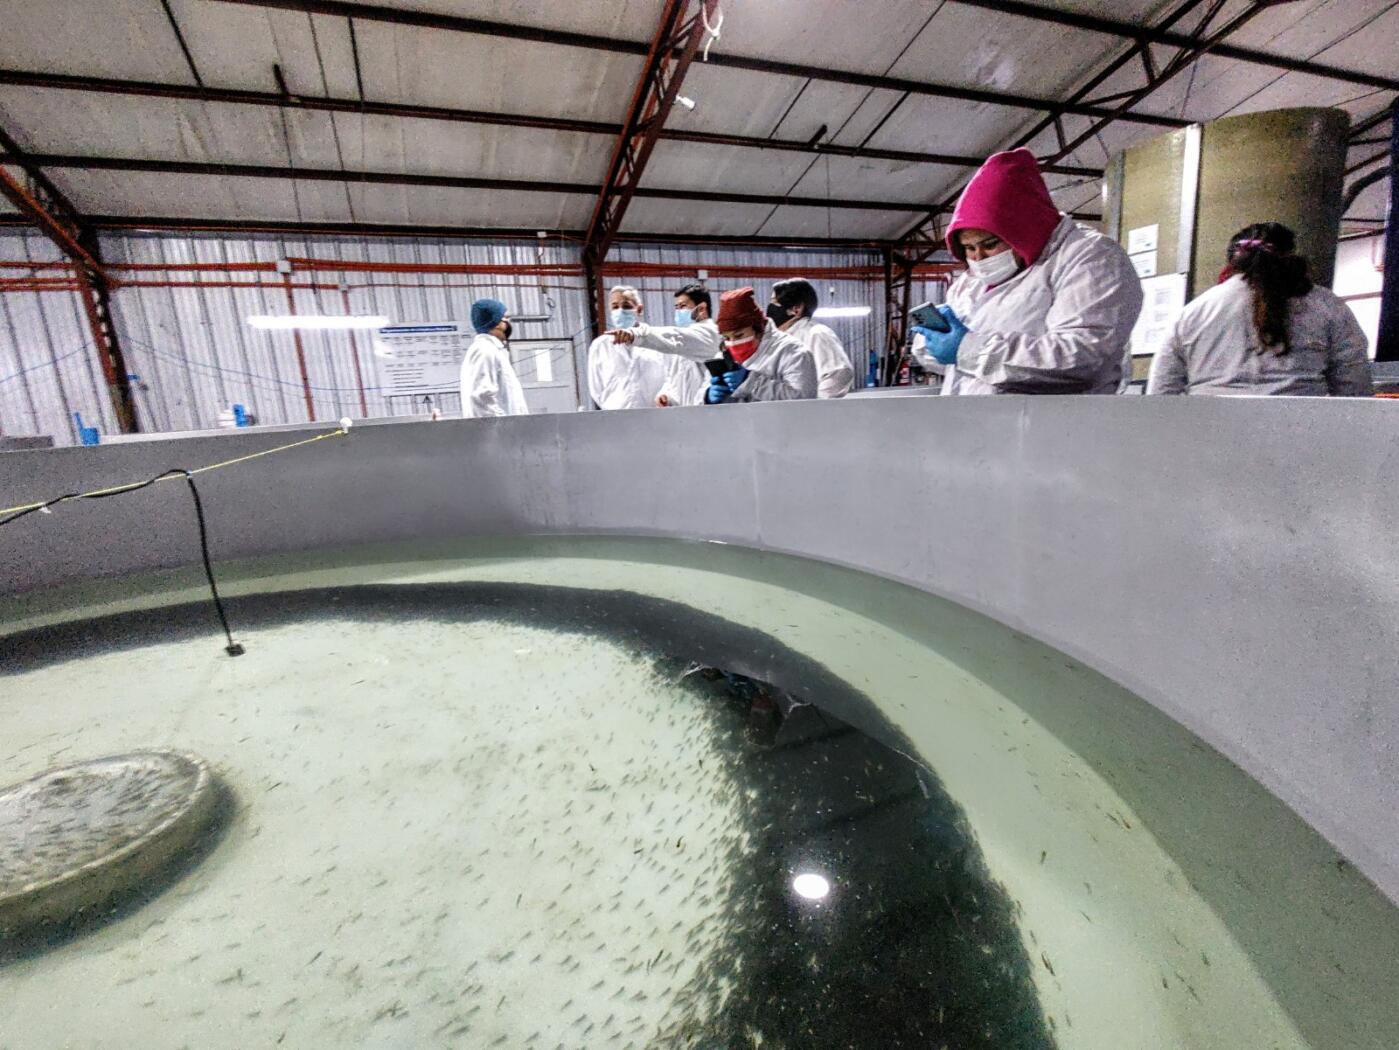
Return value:
[[(944, 394), (1115, 394), (1123, 386), (1142, 281), (1111, 238), (1060, 214), (1028, 150), (972, 176), (947, 247), (968, 271), (916, 329), (949, 365)], [(953, 368), (954, 365), (954, 368)]]

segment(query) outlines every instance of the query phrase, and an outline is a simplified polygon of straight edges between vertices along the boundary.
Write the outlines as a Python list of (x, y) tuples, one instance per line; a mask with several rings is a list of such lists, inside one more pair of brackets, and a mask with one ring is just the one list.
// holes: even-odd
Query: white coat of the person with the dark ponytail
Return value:
[(1288, 303), (1291, 350), (1258, 352), (1254, 292), (1234, 275), (1186, 306), (1151, 361), (1149, 394), (1370, 397), (1370, 351), (1356, 315), (1314, 287)]

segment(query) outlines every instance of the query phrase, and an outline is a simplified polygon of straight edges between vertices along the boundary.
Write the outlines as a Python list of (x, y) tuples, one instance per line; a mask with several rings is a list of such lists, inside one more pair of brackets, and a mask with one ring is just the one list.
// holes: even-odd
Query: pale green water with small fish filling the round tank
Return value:
[[(796, 824), (762, 808), (781, 776), (804, 773), (774, 772), (786, 769), (772, 759), (781, 738), (755, 744), (704, 693), (720, 685), (683, 677), (690, 635), (709, 663), (729, 646), (730, 670), (761, 671), (873, 738), (852, 759), (803, 728), (810, 712), (783, 724), (817, 741), (813, 754), (855, 762), (869, 791), (902, 790), (869, 772), (870, 755), (891, 748), (891, 769), (907, 756), (905, 787), (932, 786), (965, 824), (953, 844), (968, 899), (1004, 903), (975, 919), (1000, 924), (982, 938), (990, 969), (972, 958), (926, 995), (901, 986), (898, 1009), (926, 1028), (870, 1023), (929, 1033), (951, 1023), (939, 1011), (981, 1016), (972, 986), (995, 970), (1024, 1009), (986, 1022), (1007, 1025), (996, 1042), (965, 1046), (1399, 1044), (1392, 906), (1149, 705), (949, 603), (800, 559), (652, 540), (375, 548), (221, 577), (248, 645), (236, 660), (193, 576), (0, 605), (17, 638), (206, 603), (168, 636), (88, 645), (70, 632), (83, 659), (0, 668), (0, 780), (176, 747), (214, 762), (239, 800), (225, 837), (169, 892), (0, 968), (0, 1047), (112, 1046), (112, 1032), (148, 1047), (936, 1046), (856, 1042), (830, 1012), (821, 1032), (802, 1029), (803, 995), (894, 973), (902, 941), (870, 941), (888, 958), (865, 966), (842, 948), (851, 934), (837, 927), (880, 900), (867, 865), (831, 860), (839, 850), (824, 857), (835, 889), (817, 912), (799, 903), (775, 924), (775, 905), (744, 903), (754, 872), (823, 858), (768, 833)], [(511, 615), (455, 615), (456, 596), (516, 594), (491, 587), (554, 597), (537, 622), (515, 597)], [(360, 603), (353, 615), (333, 608), (340, 589)], [(369, 589), (432, 607), (367, 612)], [(294, 615), (257, 619), (248, 604), (239, 625), (239, 596), (276, 593)], [(560, 622), (564, 605), (581, 618)], [(628, 608), (641, 612), (625, 631), (586, 621)], [(803, 791), (792, 798), (823, 805), (818, 783)], [(869, 849), (895, 856), (916, 835), (884, 828)], [(937, 842), (951, 840), (929, 839), (901, 878), (942, 870)], [(792, 854), (762, 856), (775, 849)], [(967, 913), (940, 914), (921, 921)], [(904, 940), (933, 944), (926, 933)], [(975, 930), (951, 934), (979, 944)], [(765, 952), (800, 938), (811, 988)], [(740, 1007), (743, 1025), (726, 1021)]]

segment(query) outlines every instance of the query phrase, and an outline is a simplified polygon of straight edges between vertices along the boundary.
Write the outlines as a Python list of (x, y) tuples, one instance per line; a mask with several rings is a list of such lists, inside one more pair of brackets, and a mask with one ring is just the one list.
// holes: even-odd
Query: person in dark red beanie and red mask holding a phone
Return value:
[(734, 364), (709, 380), (705, 404), (816, 397), (811, 351), (768, 320), (751, 288), (720, 295), (716, 323)]

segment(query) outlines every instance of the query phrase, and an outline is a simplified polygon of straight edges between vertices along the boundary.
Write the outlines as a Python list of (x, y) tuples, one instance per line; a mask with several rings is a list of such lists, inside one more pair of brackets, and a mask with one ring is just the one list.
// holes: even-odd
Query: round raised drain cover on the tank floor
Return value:
[(0, 937), (155, 888), (218, 817), (208, 763), (136, 751), (0, 790)]

